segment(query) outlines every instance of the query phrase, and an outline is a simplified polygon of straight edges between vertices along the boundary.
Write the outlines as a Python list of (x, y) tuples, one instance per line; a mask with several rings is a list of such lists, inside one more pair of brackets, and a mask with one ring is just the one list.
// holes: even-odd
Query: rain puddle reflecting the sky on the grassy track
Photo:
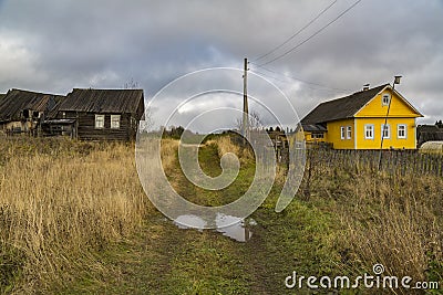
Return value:
[[(250, 228), (257, 225), (257, 222), (251, 218), (243, 220), (237, 217), (225, 215), (219, 213), (217, 213), (213, 223), (217, 225), (217, 229), (215, 229), (214, 231), (217, 231), (223, 235), (226, 235), (238, 242), (248, 241), (253, 236), (253, 231), (250, 230)], [(195, 228), (198, 229), (199, 231), (203, 231), (203, 229), (207, 228), (208, 222), (197, 215), (188, 214), (188, 215), (179, 215), (178, 218), (176, 218), (174, 220), (174, 224), (177, 225), (179, 229)], [(225, 224), (231, 224), (231, 225), (224, 226)]]

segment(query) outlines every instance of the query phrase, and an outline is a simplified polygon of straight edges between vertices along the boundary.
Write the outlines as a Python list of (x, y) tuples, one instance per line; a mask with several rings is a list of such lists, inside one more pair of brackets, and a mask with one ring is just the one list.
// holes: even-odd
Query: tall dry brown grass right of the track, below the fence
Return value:
[(308, 202), (341, 220), (338, 244), (350, 272), (372, 273), (381, 263), (384, 275), (443, 284), (442, 178), (313, 164), (309, 186)]

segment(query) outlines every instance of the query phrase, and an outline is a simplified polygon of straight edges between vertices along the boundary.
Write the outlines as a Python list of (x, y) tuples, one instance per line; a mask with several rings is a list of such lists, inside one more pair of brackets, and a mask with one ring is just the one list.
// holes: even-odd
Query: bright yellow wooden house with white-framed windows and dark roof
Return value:
[(415, 149), (416, 110), (390, 84), (318, 105), (301, 119), (306, 141), (336, 149)]

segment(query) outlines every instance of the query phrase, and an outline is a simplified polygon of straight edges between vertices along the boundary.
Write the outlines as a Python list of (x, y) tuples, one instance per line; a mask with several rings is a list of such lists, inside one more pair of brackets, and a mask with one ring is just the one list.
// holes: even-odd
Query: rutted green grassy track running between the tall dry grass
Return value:
[[(216, 146), (202, 148), (200, 165), (213, 175), (219, 172)], [(217, 206), (241, 196), (254, 177), (254, 167), (240, 171), (233, 187), (217, 192), (205, 192), (189, 183), (178, 161), (168, 175), (188, 200)], [(295, 267), (316, 270), (322, 259), (316, 250), (319, 241), (303, 232), (302, 223), (315, 214), (309, 215), (307, 209), (303, 214), (308, 217), (300, 217), (297, 210), (305, 209), (291, 207), (278, 214), (274, 211), (278, 188), (272, 196), (251, 215), (256, 222), (248, 226), (250, 239), (245, 242), (215, 230), (181, 229), (153, 210), (136, 235), (102, 253), (103, 264), (113, 270), (102, 278), (104, 283), (76, 282), (62, 293), (295, 294), (285, 287), (286, 276)]]

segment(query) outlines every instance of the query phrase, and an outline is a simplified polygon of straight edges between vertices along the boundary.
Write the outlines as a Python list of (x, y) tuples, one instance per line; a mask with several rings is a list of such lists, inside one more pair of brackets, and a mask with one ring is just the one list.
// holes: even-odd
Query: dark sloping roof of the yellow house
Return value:
[(360, 91), (349, 96), (322, 103), (301, 119), (303, 125), (313, 125), (336, 119), (351, 118), (389, 84), (368, 91)]

